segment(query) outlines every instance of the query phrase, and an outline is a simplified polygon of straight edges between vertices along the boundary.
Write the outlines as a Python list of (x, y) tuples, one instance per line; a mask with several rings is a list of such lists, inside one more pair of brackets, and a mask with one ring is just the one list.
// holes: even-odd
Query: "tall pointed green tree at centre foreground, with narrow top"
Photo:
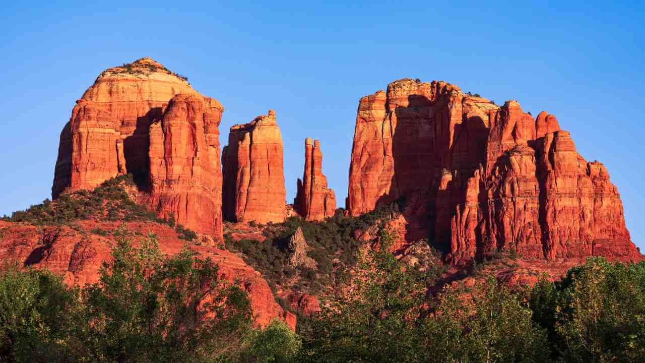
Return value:
[(415, 362), (421, 354), (417, 325), (426, 279), (406, 271), (381, 230), (377, 249), (359, 256), (358, 273), (338, 296), (322, 304), (303, 332), (303, 361)]

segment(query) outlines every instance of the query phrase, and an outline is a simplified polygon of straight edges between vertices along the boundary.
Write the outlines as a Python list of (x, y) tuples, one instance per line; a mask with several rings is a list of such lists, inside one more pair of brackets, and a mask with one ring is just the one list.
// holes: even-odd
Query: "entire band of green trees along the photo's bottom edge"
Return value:
[[(47, 271), (0, 274), (4, 362), (637, 362), (645, 354), (645, 263), (590, 258), (565, 278), (511, 290), (492, 276), (469, 293), (426, 295), (440, 271), (411, 271), (392, 237), (356, 256), (299, 333), (254, 327), (246, 292), (188, 250), (120, 238), (99, 282)], [(15, 298), (20, 296), (21, 298)]]

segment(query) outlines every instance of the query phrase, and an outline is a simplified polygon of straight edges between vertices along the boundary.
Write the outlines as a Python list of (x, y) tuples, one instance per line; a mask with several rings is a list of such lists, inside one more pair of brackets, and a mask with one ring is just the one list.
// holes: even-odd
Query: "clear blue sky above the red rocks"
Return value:
[(645, 250), (639, 1), (122, 3), (3, 5), (0, 214), (50, 197), (59, 133), (99, 72), (150, 56), (223, 103), (222, 145), (231, 125), (276, 110), (289, 200), (313, 137), (342, 205), (359, 98), (395, 79), (546, 110), (605, 163)]

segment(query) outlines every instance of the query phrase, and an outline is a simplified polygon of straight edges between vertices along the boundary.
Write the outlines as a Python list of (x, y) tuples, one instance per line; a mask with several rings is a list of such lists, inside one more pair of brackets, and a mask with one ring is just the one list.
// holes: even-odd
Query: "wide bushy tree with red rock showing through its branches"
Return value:
[(95, 362), (225, 361), (251, 323), (246, 293), (211, 260), (185, 249), (161, 256), (154, 235), (138, 249), (118, 238), (113, 261), (84, 296)]

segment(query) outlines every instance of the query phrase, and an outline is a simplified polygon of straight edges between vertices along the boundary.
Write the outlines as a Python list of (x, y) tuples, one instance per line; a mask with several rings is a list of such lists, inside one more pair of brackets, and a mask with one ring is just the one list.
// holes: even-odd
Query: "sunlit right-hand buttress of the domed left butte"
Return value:
[(215, 99), (179, 94), (150, 125), (150, 205), (198, 231), (222, 235), (219, 122)]

